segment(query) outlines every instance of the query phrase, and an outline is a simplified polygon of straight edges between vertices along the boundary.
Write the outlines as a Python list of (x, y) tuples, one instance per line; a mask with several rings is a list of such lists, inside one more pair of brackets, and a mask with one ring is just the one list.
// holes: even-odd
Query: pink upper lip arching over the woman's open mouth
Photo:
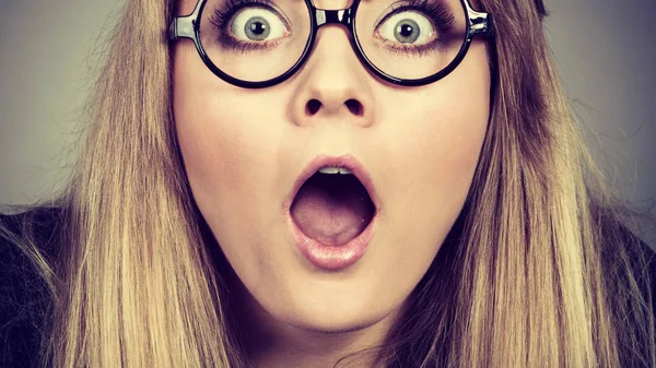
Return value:
[(319, 155), (315, 157), (306, 167), (303, 169), (298, 178), (294, 181), (294, 186), (290, 191), (288, 198), (283, 203), (283, 207), (285, 213), (289, 215), (291, 211), (292, 203), (294, 198), (296, 198), (296, 193), (305, 183), (307, 179), (309, 179), (313, 175), (315, 175), (321, 167), (326, 166), (337, 166), (337, 167), (345, 167), (351, 174), (353, 174), (358, 180), (364, 186), (366, 189), (372, 202), (374, 202), (374, 206), (376, 207), (376, 213), (380, 211), (380, 201), (378, 194), (376, 193), (376, 188), (374, 187), (374, 182), (368, 171), (360, 163), (358, 158), (350, 154), (341, 155), (341, 156), (329, 156), (329, 155)]

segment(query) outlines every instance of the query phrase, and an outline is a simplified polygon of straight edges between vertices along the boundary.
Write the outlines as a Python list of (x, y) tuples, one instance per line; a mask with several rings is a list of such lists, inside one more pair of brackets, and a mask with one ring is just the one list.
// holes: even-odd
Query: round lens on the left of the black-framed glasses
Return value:
[(200, 17), (209, 59), (247, 82), (284, 74), (303, 56), (312, 31), (303, 0), (208, 0)]

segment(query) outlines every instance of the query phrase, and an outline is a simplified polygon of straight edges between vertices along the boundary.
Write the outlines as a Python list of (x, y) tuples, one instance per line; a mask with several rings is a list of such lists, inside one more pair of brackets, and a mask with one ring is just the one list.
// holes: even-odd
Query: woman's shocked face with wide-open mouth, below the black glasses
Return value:
[[(435, 0), (448, 1), (461, 7)], [(207, 7), (213, 2), (223, 0)], [(176, 13), (195, 7), (184, 0)], [(271, 13), (256, 15), (277, 33)], [(262, 316), (331, 332), (393, 318), (471, 186), (490, 114), (484, 40), (475, 38), (453, 72), (421, 86), (373, 73), (338, 24), (319, 28), (291, 78), (263, 88), (216, 76), (192, 41), (173, 51), (174, 117), (194, 199)], [(258, 61), (267, 63), (255, 57), (254, 68)]]

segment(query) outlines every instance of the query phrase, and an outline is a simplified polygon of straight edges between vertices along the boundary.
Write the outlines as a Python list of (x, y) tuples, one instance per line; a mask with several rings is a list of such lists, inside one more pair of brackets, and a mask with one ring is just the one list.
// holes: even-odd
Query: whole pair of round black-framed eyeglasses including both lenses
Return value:
[(172, 21), (168, 39), (190, 38), (219, 78), (261, 88), (298, 71), (326, 24), (344, 25), (361, 62), (405, 86), (446, 76), (473, 36), (492, 35), (492, 16), (469, 0), (353, 0), (341, 10), (317, 9), (313, 0), (199, 0)]

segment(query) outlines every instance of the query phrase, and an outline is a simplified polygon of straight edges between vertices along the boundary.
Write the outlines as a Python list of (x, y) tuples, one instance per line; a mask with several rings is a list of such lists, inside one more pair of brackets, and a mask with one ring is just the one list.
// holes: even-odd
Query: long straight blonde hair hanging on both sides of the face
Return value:
[[(492, 114), (462, 213), (388, 341), (401, 367), (656, 366), (647, 263), (558, 84), (541, 0), (482, 0)], [(225, 269), (176, 145), (173, 1), (128, 0), (59, 203), (61, 253), (23, 241), (55, 299), (55, 367), (246, 367)], [(647, 294), (644, 294), (644, 292)], [(366, 352), (363, 352), (366, 353)]]

